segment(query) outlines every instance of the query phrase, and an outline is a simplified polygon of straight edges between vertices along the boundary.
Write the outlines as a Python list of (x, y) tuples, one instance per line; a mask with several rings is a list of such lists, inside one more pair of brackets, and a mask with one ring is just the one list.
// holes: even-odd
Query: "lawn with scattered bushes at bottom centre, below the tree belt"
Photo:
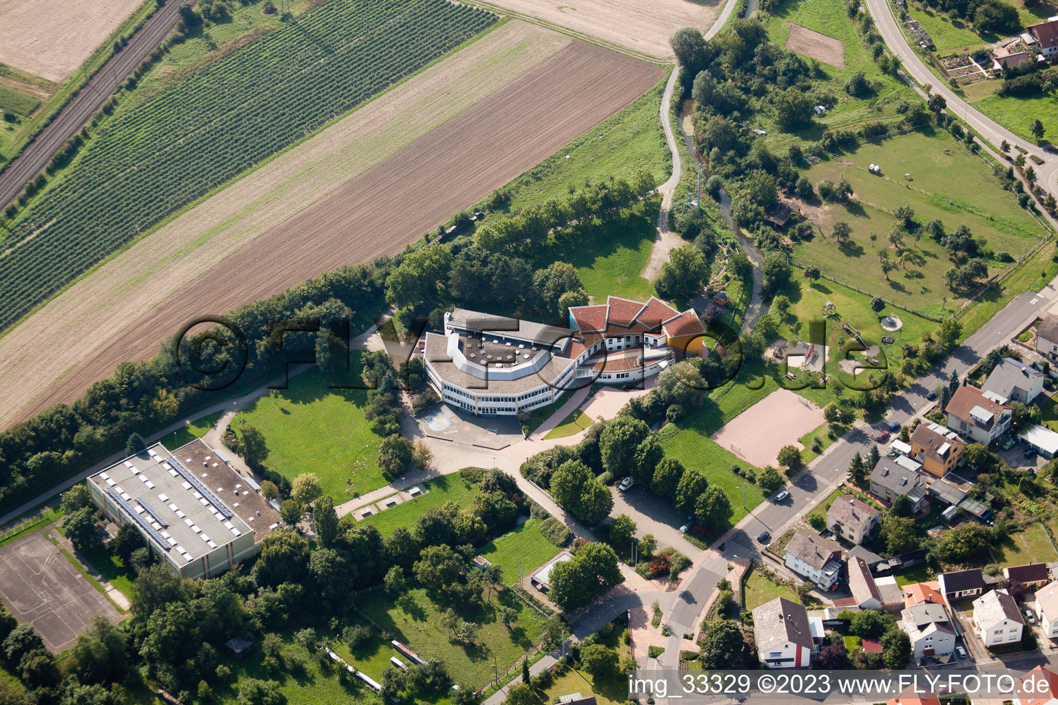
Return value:
[[(474, 644), (460, 644), (442, 626), (441, 613), (453, 608), (462, 619), (480, 625)], [(517, 611), (517, 618), (508, 629), (497, 617), (500, 607)], [(493, 593), (484, 606), (438, 605), (424, 590), (409, 590), (400, 598), (393, 598), (382, 591), (368, 593), (358, 601), (358, 610), (378, 623), (395, 638), (407, 645), (427, 661), (444, 662), (449, 674), (456, 683), (480, 688), (494, 678), (494, 669), (506, 670), (540, 639), (544, 617), (523, 602), (510, 590)], [(339, 652), (341, 653), (341, 652)], [(345, 655), (345, 654), (343, 654)], [(396, 652), (388, 653), (396, 655)], [(381, 660), (372, 655), (363, 670), (377, 678), (368, 666)], [(358, 668), (359, 661), (350, 661)], [(381, 675), (381, 671), (377, 672)]]

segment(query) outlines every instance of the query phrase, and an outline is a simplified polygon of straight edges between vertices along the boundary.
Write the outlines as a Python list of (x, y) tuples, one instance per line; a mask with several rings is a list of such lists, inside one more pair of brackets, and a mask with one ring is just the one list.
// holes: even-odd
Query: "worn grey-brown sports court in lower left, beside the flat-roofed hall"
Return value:
[(55, 528), (0, 548), (0, 599), (57, 653), (69, 648), (96, 614), (112, 624), (122, 614), (48, 539), (49, 531)]

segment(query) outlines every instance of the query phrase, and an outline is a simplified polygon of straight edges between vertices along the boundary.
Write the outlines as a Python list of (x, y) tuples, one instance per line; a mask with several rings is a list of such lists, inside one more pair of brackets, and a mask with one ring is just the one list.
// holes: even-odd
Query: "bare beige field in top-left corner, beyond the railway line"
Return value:
[(0, 61), (62, 81), (141, 0), (0, 0)]

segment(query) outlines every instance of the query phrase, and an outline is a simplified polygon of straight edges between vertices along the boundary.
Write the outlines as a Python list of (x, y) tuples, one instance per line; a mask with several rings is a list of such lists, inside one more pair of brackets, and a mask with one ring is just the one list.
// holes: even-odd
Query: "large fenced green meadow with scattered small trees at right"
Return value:
[[(869, 164), (879, 164), (882, 174), (868, 171)], [(911, 179), (905, 178), (910, 173)], [(910, 311), (944, 315), (945, 309), (957, 309), (965, 295), (951, 292), (943, 280), (951, 267), (944, 247), (929, 236), (912, 230), (904, 245), (911, 259), (890, 273), (881, 272), (879, 253), (888, 251), (896, 258), (889, 242), (893, 211), (911, 206), (919, 227), (940, 219), (946, 231), (966, 225), (975, 238), (984, 238), (995, 253), (1006, 252), (1021, 257), (1047, 230), (1018, 205), (1014, 193), (1000, 188), (986, 162), (974, 156), (947, 132), (932, 135), (911, 133), (879, 144), (865, 144), (855, 152), (820, 163), (807, 171), (819, 184), (837, 182), (844, 177), (853, 186), (855, 203), (807, 204), (802, 212), (816, 226), (814, 237), (799, 242), (794, 256), (803, 265), (816, 265), (828, 276), (849, 282), (894, 301)], [(973, 194), (971, 203), (967, 200)], [(834, 224), (843, 221), (852, 226), (850, 241), (838, 246), (832, 237)], [(871, 236), (875, 240), (871, 240)], [(1009, 264), (992, 259), (989, 275)]]

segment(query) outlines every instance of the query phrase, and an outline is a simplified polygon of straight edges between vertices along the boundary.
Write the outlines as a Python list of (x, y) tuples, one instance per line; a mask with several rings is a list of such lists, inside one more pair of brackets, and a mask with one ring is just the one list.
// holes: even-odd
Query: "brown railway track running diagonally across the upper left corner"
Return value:
[[(194, 0), (189, 0), (194, 2)], [(0, 208), (14, 201), (25, 185), (37, 178), (62, 146), (88, 124), (96, 110), (110, 99), (114, 89), (143, 63), (180, 19), (180, 5), (169, 0), (147, 20), (128, 44), (81, 88), (70, 103), (22, 153), (0, 172)]]

